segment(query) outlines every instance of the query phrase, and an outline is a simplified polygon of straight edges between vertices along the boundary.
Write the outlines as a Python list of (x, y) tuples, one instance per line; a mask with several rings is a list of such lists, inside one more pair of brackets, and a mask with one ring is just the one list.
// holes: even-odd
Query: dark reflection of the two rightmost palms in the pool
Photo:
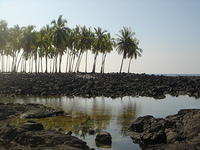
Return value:
[(118, 116), (118, 124), (121, 125), (121, 134), (126, 136), (131, 122), (136, 118), (136, 102), (128, 101)]

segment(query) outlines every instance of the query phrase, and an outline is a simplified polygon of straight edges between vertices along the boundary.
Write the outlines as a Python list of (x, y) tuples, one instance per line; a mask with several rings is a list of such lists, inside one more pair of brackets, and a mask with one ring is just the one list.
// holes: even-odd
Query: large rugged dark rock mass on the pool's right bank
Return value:
[(163, 118), (144, 116), (130, 126), (133, 142), (148, 150), (199, 150), (200, 109), (183, 109)]

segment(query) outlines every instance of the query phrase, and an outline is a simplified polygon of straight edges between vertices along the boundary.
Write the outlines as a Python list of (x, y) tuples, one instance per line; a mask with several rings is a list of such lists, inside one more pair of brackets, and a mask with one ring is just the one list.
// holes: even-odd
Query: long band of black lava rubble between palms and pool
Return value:
[(0, 96), (148, 96), (200, 97), (200, 77), (167, 77), (145, 74), (0, 74)]

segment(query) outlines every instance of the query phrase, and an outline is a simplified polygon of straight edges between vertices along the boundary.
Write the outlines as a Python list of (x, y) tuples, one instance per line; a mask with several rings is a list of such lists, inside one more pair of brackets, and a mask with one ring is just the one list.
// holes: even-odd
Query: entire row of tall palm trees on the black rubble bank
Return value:
[[(92, 72), (96, 72), (96, 62), (101, 58), (100, 72), (105, 72), (108, 53), (116, 49), (122, 54), (120, 73), (124, 59), (130, 59), (128, 72), (133, 58), (141, 56), (139, 41), (130, 28), (123, 27), (117, 38), (102, 28), (67, 27), (62, 15), (50, 25), (39, 31), (35, 26), (8, 27), (0, 21), (0, 72), (61, 72), (63, 56), (66, 58), (65, 71), (79, 72), (82, 58), (85, 57), (85, 72), (88, 72), (88, 52), (94, 55)], [(43, 62), (45, 61), (45, 62)], [(44, 65), (45, 64), (45, 65)], [(45, 66), (45, 67), (44, 67)]]

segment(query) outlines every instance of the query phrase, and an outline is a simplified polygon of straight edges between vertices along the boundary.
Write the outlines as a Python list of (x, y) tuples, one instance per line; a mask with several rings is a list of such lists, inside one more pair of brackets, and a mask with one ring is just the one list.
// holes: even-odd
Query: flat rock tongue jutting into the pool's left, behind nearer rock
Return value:
[(64, 111), (62, 110), (55, 110), (41, 104), (0, 103), (0, 120), (13, 116), (19, 116), (21, 118), (45, 118), (63, 114)]

